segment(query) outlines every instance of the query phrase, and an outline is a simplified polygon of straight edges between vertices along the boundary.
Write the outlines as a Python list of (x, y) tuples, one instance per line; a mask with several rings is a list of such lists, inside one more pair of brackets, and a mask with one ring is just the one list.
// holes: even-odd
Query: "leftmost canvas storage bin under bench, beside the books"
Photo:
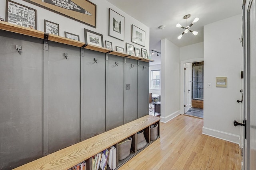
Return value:
[(132, 138), (126, 138), (118, 143), (118, 159), (123, 160), (130, 155), (130, 150), (132, 146)]

